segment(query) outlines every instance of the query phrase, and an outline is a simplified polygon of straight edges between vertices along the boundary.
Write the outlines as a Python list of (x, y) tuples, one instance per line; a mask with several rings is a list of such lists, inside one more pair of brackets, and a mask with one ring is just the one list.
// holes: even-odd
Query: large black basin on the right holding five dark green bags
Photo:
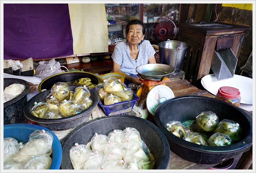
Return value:
[[(244, 130), (241, 140), (222, 147), (198, 145), (178, 138), (164, 126), (172, 120), (181, 123), (187, 120), (195, 120), (196, 116), (205, 111), (214, 112), (219, 121), (230, 119), (239, 123)], [(201, 164), (221, 163), (238, 153), (247, 151), (252, 145), (252, 118), (240, 108), (215, 98), (203, 96), (172, 98), (156, 108), (154, 120), (167, 137), (171, 150), (191, 162)]]

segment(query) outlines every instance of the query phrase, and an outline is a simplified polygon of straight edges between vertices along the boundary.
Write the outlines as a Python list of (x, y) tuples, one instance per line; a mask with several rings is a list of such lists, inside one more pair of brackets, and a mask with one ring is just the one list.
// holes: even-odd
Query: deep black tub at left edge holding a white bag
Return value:
[(23, 123), (25, 121), (23, 109), (27, 103), (29, 83), (22, 79), (4, 78), (4, 89), (13, 83), (25, 85), (25, 89), (17, 97), (4, 103), (4, 124)]

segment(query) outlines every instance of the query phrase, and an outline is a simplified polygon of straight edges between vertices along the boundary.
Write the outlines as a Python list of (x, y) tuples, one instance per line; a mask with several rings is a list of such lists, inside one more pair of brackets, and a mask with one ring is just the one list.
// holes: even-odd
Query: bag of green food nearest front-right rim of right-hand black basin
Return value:
[(227, 146), (233, 143), (234, 142), (229, 137), (229, 135), (219, 132), (211, 135), (210, 138), (208, 139), (209, 146)]

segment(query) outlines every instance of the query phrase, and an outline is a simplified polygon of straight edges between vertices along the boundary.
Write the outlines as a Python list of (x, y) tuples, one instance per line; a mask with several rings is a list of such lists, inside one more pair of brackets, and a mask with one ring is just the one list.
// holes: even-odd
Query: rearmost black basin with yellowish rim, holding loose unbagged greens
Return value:
[(88, 77), (91, 79), (91, 83), (99, 84), (101, 83), (101, 78), (93, 73), (85, 72), (85, 71), (70, 71), (58, 73), (56, 75), (49, 76), (41, 81), (38, 85), (38, 91), (42, 92), (43, 89), (51, 89), (54, 83), (57, 82), (69, 82), (74, 81), (76, 79)]

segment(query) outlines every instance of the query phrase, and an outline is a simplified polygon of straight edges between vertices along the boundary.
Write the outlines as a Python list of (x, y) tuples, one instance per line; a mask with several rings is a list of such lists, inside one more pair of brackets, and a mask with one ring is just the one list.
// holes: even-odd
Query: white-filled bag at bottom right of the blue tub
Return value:
[(31, 156), (22, 162), (20, 169), (49, 169), (51, 167), (52, 158), (47, 154)]

